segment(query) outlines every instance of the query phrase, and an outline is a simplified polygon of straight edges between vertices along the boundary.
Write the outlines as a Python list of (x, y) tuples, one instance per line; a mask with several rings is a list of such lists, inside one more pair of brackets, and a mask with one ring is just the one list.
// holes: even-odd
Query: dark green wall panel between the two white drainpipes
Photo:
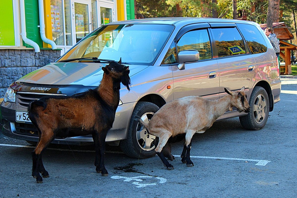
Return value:
[[(38, 0), (25, 0), (25, 18), (27, 38), (43, 47), (40, 37)], [(23, 41), (23, 46), (32, 47)]]

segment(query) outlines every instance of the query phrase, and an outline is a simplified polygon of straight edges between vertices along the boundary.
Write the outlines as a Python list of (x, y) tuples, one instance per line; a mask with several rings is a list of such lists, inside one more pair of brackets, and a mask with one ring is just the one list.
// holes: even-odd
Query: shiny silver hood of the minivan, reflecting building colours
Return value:
[[(17, 83), (36, 83), (47, 85), (84, 85), (98, 86), (103, 77), (100, 63), (50, 63), (17, 80)], [(148, 66), (129, 66), (129, 76), (140, 72)]]

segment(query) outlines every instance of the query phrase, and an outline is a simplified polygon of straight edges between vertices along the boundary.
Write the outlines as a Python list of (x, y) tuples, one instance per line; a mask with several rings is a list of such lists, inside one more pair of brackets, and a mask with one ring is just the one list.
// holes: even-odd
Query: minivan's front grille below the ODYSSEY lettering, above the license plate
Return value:
[(45, 94), (45, 93), (34, 93), (34, 92), (23, 92), (18, 91), (16, 93), (16, 98), (18, 105), (28, 109), (30, 102), (40, 99), (43, 96), (64, 96), (65, 94)]

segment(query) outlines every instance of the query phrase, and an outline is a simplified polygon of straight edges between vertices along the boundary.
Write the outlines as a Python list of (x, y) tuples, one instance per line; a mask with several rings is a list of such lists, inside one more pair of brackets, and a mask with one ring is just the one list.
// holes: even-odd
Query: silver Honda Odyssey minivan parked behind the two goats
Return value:
[[(257, 23), (217, 18), (150, 18), (108, 23), (80, 40), (56, 62), (12, 83), (1, 103), (3, 134), (38, 141), (28, 118), (30, 101), (48, 95), (73, 96), (95, 88), (102, 66), (121, 58), (130, 69), (131, 90), (122, 86), (120, 104), (106, 142), (131, 157), (155, 155), (149, 122), (166, 102), (184, 96), (217, 99), (224, 88), (243, 86), (249, 113), (234, 108), (219, 120), (239, 117), (242, 126), (262, 129), (279, 102), (281, 82), (276, 54)], [(178, 109), (176, 110), (178, 111)], [(56, 137), (52, 143), (93, 142), (91, 135)]]

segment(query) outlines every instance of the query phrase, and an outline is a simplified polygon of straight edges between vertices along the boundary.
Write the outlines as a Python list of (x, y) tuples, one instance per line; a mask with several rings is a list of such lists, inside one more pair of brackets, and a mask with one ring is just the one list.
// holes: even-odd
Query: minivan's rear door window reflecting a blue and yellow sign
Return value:
[(236, 27), (213, 28), (218, 57), (245, 54), (244, 41)]

